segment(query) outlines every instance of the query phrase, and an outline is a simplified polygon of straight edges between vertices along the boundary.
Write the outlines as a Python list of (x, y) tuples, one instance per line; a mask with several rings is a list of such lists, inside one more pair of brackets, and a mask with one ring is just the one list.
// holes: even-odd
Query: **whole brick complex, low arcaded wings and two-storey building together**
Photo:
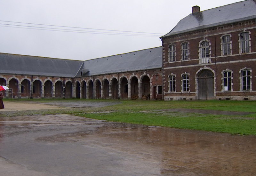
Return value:
[(0, 53), (9, 98), (256, 100), (256, 0), (189, 14), (162, 47), (86, 61)]

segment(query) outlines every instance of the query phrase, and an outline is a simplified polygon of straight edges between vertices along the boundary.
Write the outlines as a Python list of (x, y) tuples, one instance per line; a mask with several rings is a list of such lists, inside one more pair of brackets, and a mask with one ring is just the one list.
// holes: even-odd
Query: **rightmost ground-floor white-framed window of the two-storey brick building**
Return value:
[(252, 91), (252, 69), (244, 68), (240, 71), (240, 91)]

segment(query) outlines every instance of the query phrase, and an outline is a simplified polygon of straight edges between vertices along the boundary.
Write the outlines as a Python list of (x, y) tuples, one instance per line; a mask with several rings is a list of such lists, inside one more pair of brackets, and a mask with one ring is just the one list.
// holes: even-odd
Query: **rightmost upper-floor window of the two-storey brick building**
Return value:
[(251, 32), (244, 31), (239, 36), (239, 54), (251, 52)]

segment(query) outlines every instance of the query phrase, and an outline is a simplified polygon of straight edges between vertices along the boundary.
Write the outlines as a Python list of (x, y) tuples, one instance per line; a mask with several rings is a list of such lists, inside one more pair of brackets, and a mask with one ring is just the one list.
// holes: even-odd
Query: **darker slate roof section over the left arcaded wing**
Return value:
[(83, 62), (0, 53), (0, 74), (74, 77)]

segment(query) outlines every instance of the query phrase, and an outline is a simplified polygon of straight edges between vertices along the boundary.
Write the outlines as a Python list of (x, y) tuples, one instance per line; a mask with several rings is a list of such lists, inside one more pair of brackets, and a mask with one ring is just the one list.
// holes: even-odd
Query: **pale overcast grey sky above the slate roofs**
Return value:
[(89, 60), (162, 45), (198, 5), (239, 0), (1, 0), (0, 52)]

